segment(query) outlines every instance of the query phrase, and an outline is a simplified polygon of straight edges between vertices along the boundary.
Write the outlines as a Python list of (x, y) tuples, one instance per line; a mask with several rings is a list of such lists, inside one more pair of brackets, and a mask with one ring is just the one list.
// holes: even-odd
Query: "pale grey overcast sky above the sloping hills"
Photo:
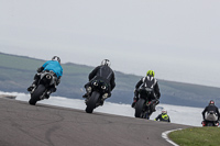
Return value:
[[(220, 87), (219, 0), (0, 0), (0, 52)], [(65, 75), (65, 70), (64, 70)]]

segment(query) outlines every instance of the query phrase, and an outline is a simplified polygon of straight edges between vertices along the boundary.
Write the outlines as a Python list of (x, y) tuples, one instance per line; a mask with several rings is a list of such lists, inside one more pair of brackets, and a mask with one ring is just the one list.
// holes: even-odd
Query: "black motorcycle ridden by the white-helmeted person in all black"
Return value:
[(87, 89), (87, 91), (90, 92), (90, 96), (86, 101), (87, 113), (92, 113), (94, 109), (103, 104), (103, 101), (108, 98), (108, 90), (109, 86), (103, 80), (94, 80), (91, 82), (91, 87), (88, 87)]

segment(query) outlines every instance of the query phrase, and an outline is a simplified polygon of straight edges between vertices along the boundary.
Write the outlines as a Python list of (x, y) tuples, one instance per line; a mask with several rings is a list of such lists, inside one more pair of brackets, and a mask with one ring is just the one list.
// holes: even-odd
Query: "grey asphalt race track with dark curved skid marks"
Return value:
[(186, 127), (0, 98), (0, 146), (170, 146), (162, 133)]

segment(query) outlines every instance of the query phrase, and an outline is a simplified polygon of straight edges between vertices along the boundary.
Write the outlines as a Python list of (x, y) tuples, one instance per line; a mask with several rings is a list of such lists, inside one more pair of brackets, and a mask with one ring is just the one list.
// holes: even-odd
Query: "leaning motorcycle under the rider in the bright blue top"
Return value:
[(29, 103), (35, 105), (37, 101), (46, 99), (46, 92), (48, 91), (51, 86), (56, 86), (56, 81), (57, 77), (54, 71), (42, 71), (36, 87), (30, 92), (31, 99), (29, 100)]

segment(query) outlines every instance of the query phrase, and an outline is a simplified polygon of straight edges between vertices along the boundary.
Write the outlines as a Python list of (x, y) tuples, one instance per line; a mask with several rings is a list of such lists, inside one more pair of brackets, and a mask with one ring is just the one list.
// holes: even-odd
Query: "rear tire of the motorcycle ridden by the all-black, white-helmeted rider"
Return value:
[(97, 92), (97, 91), (94, 91), (91, 93), (91, 97), (89, 98), (88, 100), (88, 103), (87, 103), (87, 108), (86, 108), (86, 112), (87, 113), (92, 113), (94, 112), (94, 109), (96, 108), (96, 104), (99, 100), (99, 97), (100, 97), (100, 93)]

